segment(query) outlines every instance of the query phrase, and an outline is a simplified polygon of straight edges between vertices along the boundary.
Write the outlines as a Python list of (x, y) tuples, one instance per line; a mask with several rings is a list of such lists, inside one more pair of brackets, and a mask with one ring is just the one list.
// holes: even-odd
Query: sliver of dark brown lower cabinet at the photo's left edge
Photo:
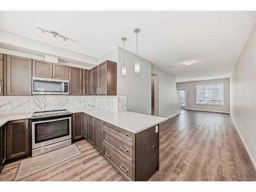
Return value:
[(0, 172), (6, 161), (6, 125), (0, 127)]

